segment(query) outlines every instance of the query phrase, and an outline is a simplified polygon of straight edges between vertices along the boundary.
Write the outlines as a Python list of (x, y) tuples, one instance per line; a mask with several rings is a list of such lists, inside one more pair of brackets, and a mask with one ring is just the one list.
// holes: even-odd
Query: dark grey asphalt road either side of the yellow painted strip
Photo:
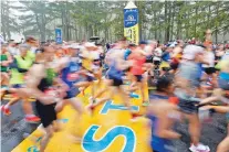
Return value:
[[(31, 133), (38, 127), (24, 121), (20, 102), (12, 106), (11, 111), (11, 116), (1, 116), (1, 152), (10, 152), (23, 140), (24, 132)], [(211, 152), (216, 152), (217, 144), (227, 133), (226, 127), (225, 116), (215, 113), (211, 122), (202, 124), (200, 141), (209, 145)], [(177, 152), (188, 152), (190, 138), (187, 122), (178, 122), (175, 129), (183, 134), (180, 140), (175, 141)]]

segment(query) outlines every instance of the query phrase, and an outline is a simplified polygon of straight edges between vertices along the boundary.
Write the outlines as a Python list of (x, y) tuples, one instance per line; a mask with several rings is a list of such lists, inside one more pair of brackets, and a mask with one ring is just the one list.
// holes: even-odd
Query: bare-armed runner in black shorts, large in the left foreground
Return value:
[(59, 83), (55, 69), (52, 65), (54, 50), (51, 46), (44, 46), (41, 56), (37, 63), (30, 68), (27, 78), (27, 88), (20, 89), (20, 95), (28, 97), (33, 95), (37, 98), (35, 109), (41, 118), (41, 123), (44, 128), (45, 134), (41, 140), (40, 152), (44, 152), (53, 132), (59, 130), (56, 121), (56, 102), (61, 102), (59, 97), (62, 90), (52, 90), (54, 83)]

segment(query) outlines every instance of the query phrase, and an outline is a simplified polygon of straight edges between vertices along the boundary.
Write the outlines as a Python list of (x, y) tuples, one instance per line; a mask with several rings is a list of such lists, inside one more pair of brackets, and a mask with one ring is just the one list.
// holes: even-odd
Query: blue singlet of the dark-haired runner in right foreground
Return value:
[[(162, 96), (162, 95), (153, 95), (150, 96), (153, 99), (168, 99), (167, 96)], [(174, 145), (170, 140), (160, 138), (157, 135), (157, 130), (158, 130), (158, 118), (155, 116), (147, 116), (148, 119), (152, 120), (152, 149), (157, 152), (173, 152), (174, 151)]]

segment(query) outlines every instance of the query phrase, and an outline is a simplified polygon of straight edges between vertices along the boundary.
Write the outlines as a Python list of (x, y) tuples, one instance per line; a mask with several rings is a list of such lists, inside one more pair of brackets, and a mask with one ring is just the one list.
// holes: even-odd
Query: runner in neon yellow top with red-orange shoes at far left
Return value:
[[(14, 61), (11, 68), (11, 78), (10, 78), (10, 85), (12, 86), (12, 89), (9, 89), (10, 93), (15, 93), (18, 88), (24, 87), (24, 76), (28, 69), (33, 64), (33, 56), (31, 57), (31, 54), (29, 53), (29, 46), (27, 44), (20, 44), (19, 46), (20, 55), (14, 56)], [(13, 89), (14, 88), (14, 89)], [(18, 102), (20, 97), (14, 96), (7, 105), (2, 105), (2, 112), (7, 116), (11, 113), (10, 107)], [(22, 108), (25, 113), (25, 120), (28, 122), (39, 122), (40, 118), (34, 116), (32, 105), (28, 100), (29, 98), (23, 98), (22, 100)]]

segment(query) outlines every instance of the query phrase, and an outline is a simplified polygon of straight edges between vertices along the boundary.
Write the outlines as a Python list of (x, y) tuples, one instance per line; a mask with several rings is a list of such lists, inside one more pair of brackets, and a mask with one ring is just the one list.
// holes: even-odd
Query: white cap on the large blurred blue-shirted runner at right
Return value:
[(201, 46), (187, 45), (184, 48), (183, 58), (185, 58), (185, 59), (194, 59), (196, 54), (198, 54), (198, 53), (204, 53), (204, 48)]

